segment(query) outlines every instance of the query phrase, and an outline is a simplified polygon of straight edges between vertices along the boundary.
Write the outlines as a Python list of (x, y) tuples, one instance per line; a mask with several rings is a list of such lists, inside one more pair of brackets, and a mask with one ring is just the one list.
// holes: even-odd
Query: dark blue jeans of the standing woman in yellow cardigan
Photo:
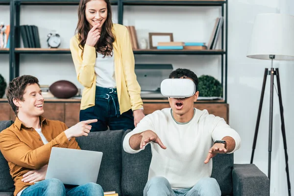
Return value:
[(91, 123), (92, 131), (133, 130), (134, 117), (130, 109), (120, 113), (120, 105), (116, 88), (102, 88), (96, 86), (95, 106), (80, 110), (80, 121), (98, 119), (97, 123)]

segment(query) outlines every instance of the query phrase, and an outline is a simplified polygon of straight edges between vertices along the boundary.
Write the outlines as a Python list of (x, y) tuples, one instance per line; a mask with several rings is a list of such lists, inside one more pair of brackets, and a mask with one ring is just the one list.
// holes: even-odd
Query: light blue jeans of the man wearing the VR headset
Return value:
[(173, 189), (165, 177), (151, 178), (144, 189), (144, 196), (221, 196), (216, 179), (202, 178), (191, 189)]

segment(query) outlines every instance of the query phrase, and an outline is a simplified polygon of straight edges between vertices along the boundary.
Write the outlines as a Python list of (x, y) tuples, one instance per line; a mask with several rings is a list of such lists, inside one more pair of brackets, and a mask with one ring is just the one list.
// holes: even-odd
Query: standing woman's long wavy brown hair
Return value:
[[(90, 31), (90, 25), (86, 20), (85, 10), (86, 3), (91, 0), (80, 0), (78, 6), (78, 23), (75, 31), (78, 33), (79, 48), (82, 49), (82, 55), (84, 52), (84, 46), (86, 44), (88, 32)], [(107, 18), (102, 25), (100, 38), (96, 43), (96, 51), (103, 54), (105, 56), (112, 56), (113, 42), (115, 41), (115, 37), (112, 33), (112, 13), (111, 13), (111, 5), (109, 0), (104, 0), (107, 4)]]

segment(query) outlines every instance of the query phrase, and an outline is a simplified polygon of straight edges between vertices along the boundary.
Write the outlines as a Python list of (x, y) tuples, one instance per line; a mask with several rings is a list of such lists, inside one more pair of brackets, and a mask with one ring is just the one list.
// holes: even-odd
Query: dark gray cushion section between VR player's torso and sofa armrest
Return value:
[(218, 154), (212, 160), (211, 177), (218, 181), (221, 188), (221, 195), (233, 195), (232, 170), (234, 166), (234, 154)]

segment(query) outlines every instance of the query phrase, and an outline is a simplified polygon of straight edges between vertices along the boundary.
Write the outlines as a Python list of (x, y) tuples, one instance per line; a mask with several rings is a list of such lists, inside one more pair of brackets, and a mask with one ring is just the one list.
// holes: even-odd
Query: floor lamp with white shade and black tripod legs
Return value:
[(271, 140), (272, 140), (272, 105), (273, 105), (273, 86), (274, 76), (277, 80), (278, 97), (280, 105), (281, 129), (285, 150), (286, 173), (288, 183), (288, 194), (291, 196), (291, 185), (289, 179), (288, 154), (286, 144), (285, 123), (283, 115), (283, 104), (281, 96), (279, 69), (273, 68), (273, 60), (294, 60), (294, 16), (285, 14), (259, 14), (255, 18), (251, 40), (247, 57), (256, 59), (271, 60), (271, 68), (265, 69), (264, 80), (262, 85), (257, 122), (255, 126), (254, 141), (252, 146), (251, 161), (253, 162), (254, 150), (256, 146), (258, 127), (261, 116), (262, 103), (265, 93), (267, 76), (270, 75), (270, 121), (269, 121), (269, 170), (270, 179), (270, 159), (271, 159)]

